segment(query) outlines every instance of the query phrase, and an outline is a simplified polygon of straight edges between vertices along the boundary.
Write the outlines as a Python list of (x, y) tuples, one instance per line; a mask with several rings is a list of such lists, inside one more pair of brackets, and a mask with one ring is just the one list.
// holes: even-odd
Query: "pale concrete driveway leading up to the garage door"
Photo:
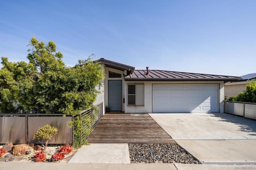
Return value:
[(150, 113), (203, 164), (256, 162), (256, 121), (226, 113)]

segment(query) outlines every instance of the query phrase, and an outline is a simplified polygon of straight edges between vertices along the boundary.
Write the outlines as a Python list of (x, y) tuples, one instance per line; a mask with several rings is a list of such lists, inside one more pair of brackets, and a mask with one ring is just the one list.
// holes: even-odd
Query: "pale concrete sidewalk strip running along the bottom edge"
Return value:
[(254, 165), (0, 162), (1, 170), (253, 170)]

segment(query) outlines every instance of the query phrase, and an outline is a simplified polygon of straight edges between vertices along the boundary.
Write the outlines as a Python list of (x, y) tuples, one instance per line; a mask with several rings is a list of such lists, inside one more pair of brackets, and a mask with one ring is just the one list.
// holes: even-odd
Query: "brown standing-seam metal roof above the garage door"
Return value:
[(197, 74), (189, 72), (149, 70), (149, 75), (146, 75), (147, 70), (134, 70), (134, 72), (124, 78), (126, 81), (204, 81), (204, 80), (222, 80), (222, 81), (237, 81), (242, 78), (237, 76), (221, 76), (213, 74)]

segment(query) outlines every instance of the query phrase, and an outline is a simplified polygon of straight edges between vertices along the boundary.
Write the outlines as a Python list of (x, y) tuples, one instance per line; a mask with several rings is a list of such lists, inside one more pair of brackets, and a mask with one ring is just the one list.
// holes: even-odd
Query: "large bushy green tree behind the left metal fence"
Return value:
[(53, 41), (32, 37), (29, 63), (12, 63), (2, 57), (0, 69), (1, 113), (78, 113), (91, 107), (104, 79), (104, 69), (92, 56), (67, 67)]

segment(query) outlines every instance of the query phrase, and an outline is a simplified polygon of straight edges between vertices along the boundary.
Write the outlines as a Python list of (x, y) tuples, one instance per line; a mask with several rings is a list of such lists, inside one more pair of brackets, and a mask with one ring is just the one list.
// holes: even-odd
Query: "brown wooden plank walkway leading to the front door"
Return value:
[(176, 143), (147, 113), (105, 113), (89, 143)]

